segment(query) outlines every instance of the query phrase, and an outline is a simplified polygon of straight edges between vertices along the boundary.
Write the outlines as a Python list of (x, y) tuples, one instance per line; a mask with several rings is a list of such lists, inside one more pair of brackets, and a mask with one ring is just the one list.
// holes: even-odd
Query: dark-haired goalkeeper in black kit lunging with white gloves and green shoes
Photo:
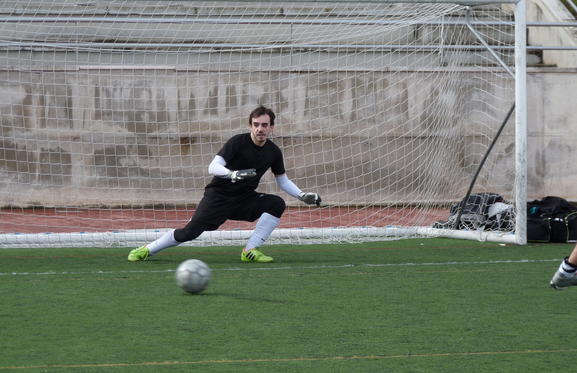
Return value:
[(243, 262), (272, 262), (258, 248), (278, 226), (285, 210), (284, 200), (256, 191), (261, 177), (270, 168), (280, 189), (309, 205), (320, 206), (317, 193), (302, 192), (285, 173), (281, 150), (270, 139), (275, 114), (259, 106), (250, 113), (248, 133), (231, 137), (208, 166), (214, 175), (204, 189), (204, 197), (194, 216), (183, 228), (164, 233), (156, 241), (130, 251), (128, 260), (145, 260), (168, 247), (193, 240), (204, 231), (218, 229), (226, 220), (255, 221), (256, 227), (241, 253)]

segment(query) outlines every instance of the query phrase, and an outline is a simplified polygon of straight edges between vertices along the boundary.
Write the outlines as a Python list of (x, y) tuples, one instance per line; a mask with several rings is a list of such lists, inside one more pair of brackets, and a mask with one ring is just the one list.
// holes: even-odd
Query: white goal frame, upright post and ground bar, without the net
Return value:
[[(194, 1), (194, 0), (193, 0)], [(255, 2), (254, 0), (240, 0), (240, 2)], [(279, 1), (280, 2), (280, 1)], [(302, 2), (288, 0), (283, 2)], [(316, 1), (308, 1), (315, 3)], [(347, 3), (346, 0), (332, 0), (334, 3)], [(494, 241), (503, 243), (526, 244), (526, 200), (527, 200), (527, 96), (526, 96), (526, 0), (363, 0), (363, 3), (459, 3), (467, 6), (488, 4), (511, 4), (515, 11), (515, 232), (501, 233), (490, 231), (448, 230), (432, 227), (383, 227), (383, 228), (307, 228), (307, 229), (277, 229), (271, 238), (302, 239), (324, 237), (342, 237), (346, 240), (350, 235), (366, 235), (367, 240), (376, 240), (381, 237), (404, 237), (407, 234), (427, 237), (451, 237), (459, 239)], [(323, 1), (324, 3), (324, 1)], [(469, 25), (470, 26), (470, 25)], [(489, 52), (491, 50), (489, 49)], [(44, 234), (0, 234), (0, 246), (9, 243), (10, 246), (58, 246), (66, 242), (66, 246), (83, 247), (94, 246), (94, 242), (104, 241), (107, 246), (133, 246), (136, 242), (148, 242), (156, 239), (165, 230), (134, 230), (102, 233), (44, 233)], [(120, 237), (122, 234), (122, 237)], [(236, 243), (246, 240), (251, 231), (218, 231), (204, 232), (193, 246), (206, 244)], [(298, 240), (297, 240), (298, 241)], [(184, 244), (185, 246), (188, 243)]]

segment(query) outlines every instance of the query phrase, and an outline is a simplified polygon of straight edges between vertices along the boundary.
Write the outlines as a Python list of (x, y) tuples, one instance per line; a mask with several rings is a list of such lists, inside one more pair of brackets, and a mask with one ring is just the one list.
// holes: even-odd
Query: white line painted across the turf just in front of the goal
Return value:
[[(340, 268), (363, 268), (363, 267), (429, 267), (429, 266), (464, 266), (464, 265), (485, 265), (485, 264), (525, 264), (525, 263), (546, 263), (560, 262), (556, 259), (516, 259), (516, 260), (483, 260), (470, 262), (431, 262), (431, 263), (377, 263), (377, 264), (341, 264), (341, 265), (316, 265), (316, 266), (288, 266), (288, 267), (231, 267), (213, 268), (213, 272), (223, 271), (290, 271), (290, 270), (315, 270), (315, 269), (340, 269)], [(120, 274), (120, 273), (170, 273), (174, 269), (163, 270), (120, 270), (120, 271), (47, 271), (47, 272), (0, 272), (0, 276), (50, 276), (50, 275), (99, 275), (99, 274)]]

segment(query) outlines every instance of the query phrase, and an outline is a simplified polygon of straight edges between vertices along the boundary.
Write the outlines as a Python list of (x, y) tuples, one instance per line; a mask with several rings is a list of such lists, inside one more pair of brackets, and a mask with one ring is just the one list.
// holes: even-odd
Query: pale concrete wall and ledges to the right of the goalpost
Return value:
[[(560, 1), (531, 0), (527, 19), (567, 23), (575, 18)], [(575, 27), (531, 27), (530, 45), (577, 47)], [(558, 195), (577, 200), (577, 51), (546, 50), (528, 76), (529, 198)]]

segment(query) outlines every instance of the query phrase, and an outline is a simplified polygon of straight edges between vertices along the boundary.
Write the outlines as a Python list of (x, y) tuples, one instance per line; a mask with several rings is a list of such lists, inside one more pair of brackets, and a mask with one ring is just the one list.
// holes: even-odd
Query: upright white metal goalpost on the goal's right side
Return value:
[(526, 0), (515, 7), (515, 236), (527, 243), (527, 20)]

